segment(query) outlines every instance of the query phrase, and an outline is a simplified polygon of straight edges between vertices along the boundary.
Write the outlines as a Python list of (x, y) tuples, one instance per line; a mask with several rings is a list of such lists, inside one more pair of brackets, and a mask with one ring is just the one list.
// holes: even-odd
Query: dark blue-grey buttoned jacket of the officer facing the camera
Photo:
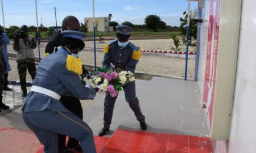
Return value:
[(134, 73), (138, 60), (132, 58), (133, 52), (138, 51), (139, 48), (129, 42), (125, 48), (118, 46), (118, 40), (109, 42), (108, 53), (105, 53), (102, 66), (110, 67), (110, 63), (115, 66), (123, 66), (126, 71)]

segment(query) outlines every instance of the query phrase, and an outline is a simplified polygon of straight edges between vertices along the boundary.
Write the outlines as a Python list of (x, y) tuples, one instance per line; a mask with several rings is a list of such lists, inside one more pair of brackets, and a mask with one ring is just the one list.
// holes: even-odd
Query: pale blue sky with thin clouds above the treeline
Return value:
[[(5, 25), (35, 25), (35, 1), (34, 0), (2, 0), (5, 14)], [(129, 21), (133, 24), (144, 24), (147, 15), (158, 15), (171, 26), (179, 26), (179, 18), (183, 11), (187, 10), (186, 0), (95, 0), (95, 16), (108, 16), (112, 14), (112, 21)], [(61, 25), (63, 18), (67, 15), (76, 16), (84, 23), (84, 18), (93, 16), (92, 0), (38, 0), (39, 25), (46, 27), (55, 26), (55, 11), (57, 14), (57, 25)], [(191, 2), (191, 8), (197, 7), (197, 2)], [(2, 12), (0, 24), (3, 25)]]

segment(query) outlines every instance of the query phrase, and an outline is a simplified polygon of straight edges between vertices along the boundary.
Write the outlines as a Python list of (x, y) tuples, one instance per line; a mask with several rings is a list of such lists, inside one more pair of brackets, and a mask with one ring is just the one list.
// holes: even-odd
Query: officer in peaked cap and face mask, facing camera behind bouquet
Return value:
[[(117, 29), (118, 39), (105, 45), (105, 55), (102, 65), (110, 67), (112, 64), (114, 68), (134, 73), (135, 67), (141, 57), (141, 48), (138, 48), (129, 42), (130, 33), (133, 31), (133, 28), (126, 25), (117, 25), (115, 28)], [(127, 103), (129, 103), (130, 108), (133, 110), (137, 120), (141, 124), (141, 129), (146, 130), (147, 125), (145, 117), (141, 112), (139, 100), (136, 97), (135, 82), (126, 84), (123, 86), (123, 90), (125, 91), (125, 99)], [(98, 133), (99, 136), (105, 135), (105, 133), (109, 131), (116, 99), (117, 97), (111, 97), (108, 93), (106, 94), (104, 101), (104, 128)]]

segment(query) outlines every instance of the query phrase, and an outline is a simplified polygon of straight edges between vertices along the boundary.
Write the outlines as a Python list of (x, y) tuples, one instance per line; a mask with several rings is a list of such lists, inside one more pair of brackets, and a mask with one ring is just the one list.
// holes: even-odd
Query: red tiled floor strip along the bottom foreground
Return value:
[[(97, 152), (212, 152), (210, 139), (188, 135), (149, 133), (118, 129), (108, 137), (94, 136)], [(32, 131), (0, 127), (0, 152), (41, 153), (43, 146)]]

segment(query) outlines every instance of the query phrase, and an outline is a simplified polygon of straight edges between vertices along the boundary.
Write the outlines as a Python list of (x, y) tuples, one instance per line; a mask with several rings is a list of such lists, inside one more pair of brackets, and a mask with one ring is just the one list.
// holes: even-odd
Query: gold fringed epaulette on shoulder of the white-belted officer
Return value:
[(79, 58), (68, 55), (66, 69), (73, 73), (82, 74), (82, 61)]

